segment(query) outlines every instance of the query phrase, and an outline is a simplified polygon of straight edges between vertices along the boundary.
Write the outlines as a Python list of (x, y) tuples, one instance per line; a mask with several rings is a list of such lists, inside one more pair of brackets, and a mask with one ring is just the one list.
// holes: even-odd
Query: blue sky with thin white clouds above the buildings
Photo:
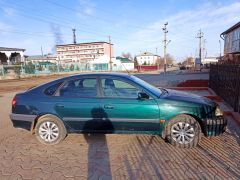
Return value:
[[(55, 44), (108, 41), (114, 55), (167, 52), (177, 61), (198, 55), (198, 31), (206, 56), (220, 53), (220, 34), (240, 21), (240, 0), (0, 0), (0, 47), (26, 55), (53, 53)], [(221, 40), (223, 51), (223, 40)]]

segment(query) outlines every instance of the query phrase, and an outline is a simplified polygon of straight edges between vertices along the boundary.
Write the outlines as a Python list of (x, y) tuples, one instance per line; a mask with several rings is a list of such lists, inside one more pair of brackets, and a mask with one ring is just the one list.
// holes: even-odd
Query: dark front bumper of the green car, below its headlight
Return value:
[(216, 116), (214, 118), (208, 118), (204, 121), (206, 136), (217, 136), (225, 132), (227, 126), (227, 119), (223, 116)]

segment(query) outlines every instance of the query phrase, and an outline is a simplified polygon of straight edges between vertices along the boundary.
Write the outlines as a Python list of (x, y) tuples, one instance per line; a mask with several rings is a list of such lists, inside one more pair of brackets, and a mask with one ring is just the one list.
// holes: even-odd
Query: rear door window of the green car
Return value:
[(97, 80), (95, 78), (70, 80), (61, 87), (59, 95), (70, 98), (97, 97)]

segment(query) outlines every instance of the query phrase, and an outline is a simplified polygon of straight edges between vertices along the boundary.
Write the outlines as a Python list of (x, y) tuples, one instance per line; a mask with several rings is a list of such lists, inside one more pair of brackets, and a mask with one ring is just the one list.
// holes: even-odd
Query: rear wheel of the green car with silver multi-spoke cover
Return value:
[(53, 115), (44, 115), (40, 117), (34, 130), (37, 140), (46, 145), (58, 144), (67, 135), (63, 122)]

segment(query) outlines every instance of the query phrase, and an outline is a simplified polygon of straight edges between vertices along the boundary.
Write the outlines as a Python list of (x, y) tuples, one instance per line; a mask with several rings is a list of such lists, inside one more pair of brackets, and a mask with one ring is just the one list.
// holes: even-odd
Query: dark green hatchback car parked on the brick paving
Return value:
[(160, 135), (171, 144), (195, 147), (205, 136), (224, 132), (226, 120), (213, 101), (156, 88), (128, 74), (69, 76), (18, 93), (10, 118), (44, 144), (68, 133)]

